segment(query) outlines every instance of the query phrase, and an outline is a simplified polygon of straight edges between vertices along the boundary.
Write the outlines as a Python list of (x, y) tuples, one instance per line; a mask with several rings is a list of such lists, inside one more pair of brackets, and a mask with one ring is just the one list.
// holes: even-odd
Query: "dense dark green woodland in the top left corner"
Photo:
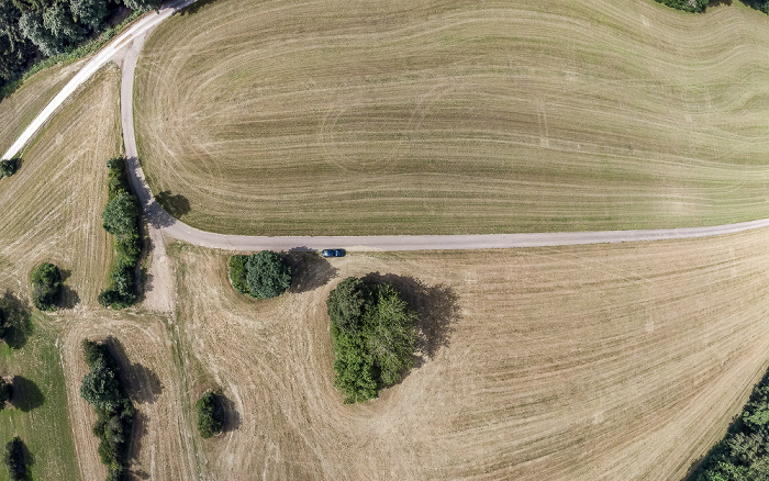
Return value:
[(0, 0), (0, 87), (41, 56), (67, 51), (101, 32), (125, 5), (148, 11), (160, 0)]

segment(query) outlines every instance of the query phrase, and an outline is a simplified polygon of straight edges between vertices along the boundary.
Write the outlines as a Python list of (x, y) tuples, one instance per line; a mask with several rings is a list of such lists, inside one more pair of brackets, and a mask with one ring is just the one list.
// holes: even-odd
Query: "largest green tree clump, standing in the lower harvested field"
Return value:
[(416, 314), (390, 284), (348, 277), (326, 300), (334, 384), (345, 403), (377, 398), (414, 365)]

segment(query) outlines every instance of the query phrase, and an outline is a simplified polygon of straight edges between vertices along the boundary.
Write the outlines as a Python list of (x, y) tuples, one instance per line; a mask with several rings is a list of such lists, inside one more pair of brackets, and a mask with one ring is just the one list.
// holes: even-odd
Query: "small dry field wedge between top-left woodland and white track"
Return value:
[(0, 100), (0, 155), (82, 67), (85, 60), (58, 64), (30, 77), (9, 98)]

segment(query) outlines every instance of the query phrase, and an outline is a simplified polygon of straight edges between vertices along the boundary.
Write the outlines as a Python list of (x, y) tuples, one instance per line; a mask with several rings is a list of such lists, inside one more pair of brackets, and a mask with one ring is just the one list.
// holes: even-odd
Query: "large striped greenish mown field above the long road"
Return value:
[(238, 234), (624, 230), (769, 216), (769, 16), (650, 0), (218, 0), (164, 23), (153, 191)]

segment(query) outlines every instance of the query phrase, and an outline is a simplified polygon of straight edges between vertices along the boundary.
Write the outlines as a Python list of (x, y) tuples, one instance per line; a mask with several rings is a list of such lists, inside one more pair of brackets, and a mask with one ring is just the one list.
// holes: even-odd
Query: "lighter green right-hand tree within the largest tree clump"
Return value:
[(381, 384), (390, 385), (414, 366), (416, 313), (409, 310), (389, 284), (377, 293), (377, 302), (366, 312), (364, 337), (368, 354), (379, 368)]

